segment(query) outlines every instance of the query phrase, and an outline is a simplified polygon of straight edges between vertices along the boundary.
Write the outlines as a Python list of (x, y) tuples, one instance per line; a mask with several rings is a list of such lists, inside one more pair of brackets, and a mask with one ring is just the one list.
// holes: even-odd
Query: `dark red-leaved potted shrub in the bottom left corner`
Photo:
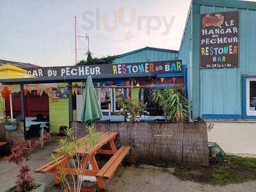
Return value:
[(30, 168), (28, 161), (31, 158), (35, 148), (41, 147), (42, 142), (49, 138), (49, 134), (44, 135), (44, 139), (35, 141), (31, 144), (29, 141), (20, 141), (15, 147), (11, 149), (10, 156), (6, 157), (8, 163), (12, 162), (20, 167), (19, 174), (15, 186), (4, 190), (3, 192), (42, 192), (45, 184), (42, 182), (35, 182), (30, 175)]

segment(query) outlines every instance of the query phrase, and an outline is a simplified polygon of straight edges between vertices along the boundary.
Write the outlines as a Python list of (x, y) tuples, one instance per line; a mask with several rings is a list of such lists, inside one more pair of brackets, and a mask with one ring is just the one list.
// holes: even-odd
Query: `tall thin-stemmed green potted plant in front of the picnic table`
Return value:
[[(95, 147), (97, 141), (99, 140), (99, 135), (96, 133), (94, 125), (89, 125), (87, 127), (88, 134), (81, 142), (76, 142), (76, 137), (72, 134), (72, 129), (67, 128), (65, 134), (67, 138), (59, 140), (60, 152), (59, 154), (63, 156), (69, 156), (70, 161), (67, 164), (68, 168), (72, 168), (76, 174), (70, 174), (71, 178), (67, 178), (67, 174), (64, 172), (60, 173), (60, 178), (65, 188), (65, 192), (94, 192), (95, 189), (81, 189), (83, 182), (83, 172), (88, 168), (88, 163), (90, 155), (92, 154), (92, 149)], [(77, 148), (84, 147), (87, 152), (87, 156), (81, 156), (76, 152)], [(60, 164), (58, 158), (52, 155), (52, 160)]]

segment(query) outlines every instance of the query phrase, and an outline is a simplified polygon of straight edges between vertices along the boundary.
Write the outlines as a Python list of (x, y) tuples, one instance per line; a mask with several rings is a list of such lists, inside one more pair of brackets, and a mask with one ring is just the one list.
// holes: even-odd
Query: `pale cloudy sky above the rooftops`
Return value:
[[(256, 1), (256, 0), (254, 0)], [(0, 0), (0, 59), (42, 67), (143, 47), (179, 50), (190, 0)]]

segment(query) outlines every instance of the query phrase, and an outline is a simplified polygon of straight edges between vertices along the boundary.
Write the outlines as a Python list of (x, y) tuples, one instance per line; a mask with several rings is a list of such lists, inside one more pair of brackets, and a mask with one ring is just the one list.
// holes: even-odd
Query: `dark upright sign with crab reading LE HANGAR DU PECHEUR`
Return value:
[(239, 11), (201, 15), (200, 68), (239, 66)]

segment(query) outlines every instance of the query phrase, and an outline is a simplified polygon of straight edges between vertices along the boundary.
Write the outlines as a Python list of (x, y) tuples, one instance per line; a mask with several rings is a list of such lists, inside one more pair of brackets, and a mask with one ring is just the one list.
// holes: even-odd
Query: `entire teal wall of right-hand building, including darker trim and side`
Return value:
[[(186, 65), (189, 65), (189, 51), (193, 52), (192, 95), (188, 89), (189, 99), (191, 99), (193, 106), (193, 118), (212, 115), (219, 117), (221, 115), (241, 116), (242, 75), (256, 76), (256, 3), (251, 6), (254, 10), (250, 10), (234, 7), (236, 4), (246, 7), (246, 2), (225, 1), (226, 7), (221, 7), (221, 2), (224, 1), (216, 1), (218, 6), (205, 6), (204, 3), (209, 4), (209, 1), (193, 1), (191, 14), (189, 14), (186, 31), (180, 47), (179, 59)], [(230, 6), (227, 6), (227, 3)], [(239, 68), (199, 69), (200, 14), (230, 10), (239, 10), (240, 12)], [(189, 34), (192, 34), (192, 45), (189, 42)], [(188, 68), (188, 80), (189, 77)]]

